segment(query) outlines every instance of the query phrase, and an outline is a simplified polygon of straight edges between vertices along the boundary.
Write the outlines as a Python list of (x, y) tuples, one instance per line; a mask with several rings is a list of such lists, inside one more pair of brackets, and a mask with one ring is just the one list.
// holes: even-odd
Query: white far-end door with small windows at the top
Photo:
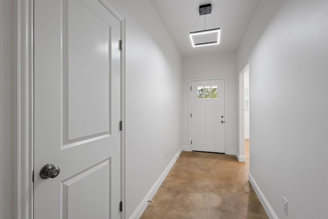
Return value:
[(191, 149), (225, 153), (224, 79), (191, 82)]

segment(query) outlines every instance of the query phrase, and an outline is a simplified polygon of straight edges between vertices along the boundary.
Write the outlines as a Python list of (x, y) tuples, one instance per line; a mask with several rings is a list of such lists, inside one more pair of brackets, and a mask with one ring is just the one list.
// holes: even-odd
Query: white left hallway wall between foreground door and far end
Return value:
[(126, 18), (129, 218), (181, 148), (182, 58), (150, 1), (115, 0), (113, 4)]

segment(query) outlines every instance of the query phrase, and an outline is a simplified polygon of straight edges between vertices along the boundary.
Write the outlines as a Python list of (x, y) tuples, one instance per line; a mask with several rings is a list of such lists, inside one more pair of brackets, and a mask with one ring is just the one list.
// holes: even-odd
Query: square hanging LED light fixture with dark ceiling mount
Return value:
[[(190, 36), (190, 41), (191, 41), (193, 47), (211, 46), (211, 45), (220, 44), (220, 28), (213, 28), (213, 29), (206, 30), (206, 15), (211, 14), (211, 13), (212, 13), (211, 4), (199, 6), (199, 17), (200, 17), (200, 15), (205, 15), (204, 16), (204, 30), (190, 32), (189, 36)], [(199, 21), (199, 17), (198, 17), (198, 21)], [(213, 19), (213, 23), (215, 25), (213, 16), (212, 16), (212, 19)], [(197, 21), (197, 24), (198, 24), (198, 21)], [(196, 24), (195, 29), (197, 28), (197, 24)]]

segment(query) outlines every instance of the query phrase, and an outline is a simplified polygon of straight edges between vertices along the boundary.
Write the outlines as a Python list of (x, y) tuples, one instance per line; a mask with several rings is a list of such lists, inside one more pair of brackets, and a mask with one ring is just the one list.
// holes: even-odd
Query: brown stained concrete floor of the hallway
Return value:
[(142, 219), (269, 218), (251, 184), (247, 162), (233, 155), (183, 151)]

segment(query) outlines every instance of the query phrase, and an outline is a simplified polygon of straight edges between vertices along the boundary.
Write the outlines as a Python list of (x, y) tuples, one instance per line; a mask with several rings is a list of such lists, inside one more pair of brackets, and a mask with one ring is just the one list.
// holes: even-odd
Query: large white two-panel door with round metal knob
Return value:
[(104, 5), (34, 0), (35, 219), (120, 217), (120, 22)]

